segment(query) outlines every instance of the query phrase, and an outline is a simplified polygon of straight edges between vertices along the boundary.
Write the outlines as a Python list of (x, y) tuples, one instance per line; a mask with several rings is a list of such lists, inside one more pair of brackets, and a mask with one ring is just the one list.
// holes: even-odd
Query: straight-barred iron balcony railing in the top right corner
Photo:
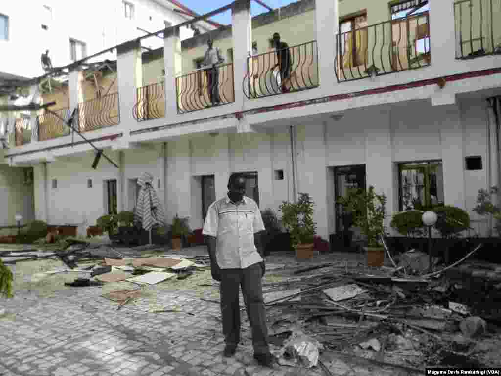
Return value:
[(501, 1), (462, 0), (454, 4), (456, 58), (501, 54)]

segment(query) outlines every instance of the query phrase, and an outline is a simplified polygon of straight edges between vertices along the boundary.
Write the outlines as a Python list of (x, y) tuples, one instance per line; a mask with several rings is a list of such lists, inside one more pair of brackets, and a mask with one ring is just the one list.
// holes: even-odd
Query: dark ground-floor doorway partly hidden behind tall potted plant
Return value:
[(343, 206), (339, 203), (340, 197), (346, 197), (347, 191), (350, 188), (366, 189), (367, 174), (365, 164), (342, 166), (334, 168), (334, 194), (336, 198), (335, 203), (335, 222), (336, 234), (339, 234), (344, 239), (344, 245), (349, 247), (351, 245), (352, 236), (357, 229), (352, 228), (350, 231), (351, 219), (345, 215)]

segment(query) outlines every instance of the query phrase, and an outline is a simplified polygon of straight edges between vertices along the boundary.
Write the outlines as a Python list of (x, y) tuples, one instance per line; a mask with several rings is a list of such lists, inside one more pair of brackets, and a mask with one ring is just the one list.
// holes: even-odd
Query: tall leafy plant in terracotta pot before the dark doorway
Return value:
[(353, 214), (353, 224), (367, 238), (367, 264), (383, 266), (384, 247), (379, 237), (384, 232), (386, 196), (377, 195), (374, 186), (370, 185), (367, 191), (361, 188), (348, 189), (346, 197), (339, 200)]

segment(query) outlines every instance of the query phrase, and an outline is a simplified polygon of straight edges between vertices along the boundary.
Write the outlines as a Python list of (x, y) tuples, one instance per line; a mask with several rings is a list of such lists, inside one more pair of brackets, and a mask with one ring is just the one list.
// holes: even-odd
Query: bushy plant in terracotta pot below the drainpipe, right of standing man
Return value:
[(311, 259), (314, 250), (314, 238), (317, 224), (313, 222), (314, 203), (310, 195), (300, 193), (297, 203), (282, 202), (282, 225), (291, 234), (291, 243), (299, 260)]

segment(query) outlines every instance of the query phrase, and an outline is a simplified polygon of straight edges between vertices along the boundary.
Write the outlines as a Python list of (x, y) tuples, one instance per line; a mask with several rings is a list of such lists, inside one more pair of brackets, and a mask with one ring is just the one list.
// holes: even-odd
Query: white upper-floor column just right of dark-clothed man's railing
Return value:
[(336, 33), (338, 33), (339, 0), (315, 2), (319, 83), (324, 87), (337, 84), (335, 69)]

